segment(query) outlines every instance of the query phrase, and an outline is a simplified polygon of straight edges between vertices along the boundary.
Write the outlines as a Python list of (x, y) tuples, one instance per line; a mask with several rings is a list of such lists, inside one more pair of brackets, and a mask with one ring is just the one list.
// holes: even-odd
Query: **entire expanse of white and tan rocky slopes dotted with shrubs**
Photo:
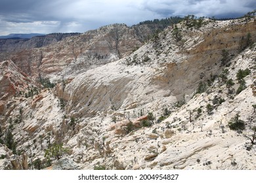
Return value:
[[(12, 129), (17, 150), (43, 167), (44, 150), (64, 144), (51, 169), (255, 169), (255, 20), (177, 28), (179, 40), (168, 27), (142, 43), (138, 28), (108, 25), (12, 56), (32, 78), (56, 81), (45, 90), (2, 62), (0, 80), (23, 93), (2, 97), (0, 138)], [(250, 71), (243, 85), (240, 69)], [(233, 131), (237, 114), (245, 128)]]

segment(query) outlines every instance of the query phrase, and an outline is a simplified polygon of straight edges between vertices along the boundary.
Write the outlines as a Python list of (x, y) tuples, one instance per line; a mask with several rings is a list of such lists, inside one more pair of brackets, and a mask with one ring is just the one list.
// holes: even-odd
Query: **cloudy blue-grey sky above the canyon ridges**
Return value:
[(255, 9), (255, 0), (1, 0), (0, 35), (83, 33), (188, 14), (234, 18)]

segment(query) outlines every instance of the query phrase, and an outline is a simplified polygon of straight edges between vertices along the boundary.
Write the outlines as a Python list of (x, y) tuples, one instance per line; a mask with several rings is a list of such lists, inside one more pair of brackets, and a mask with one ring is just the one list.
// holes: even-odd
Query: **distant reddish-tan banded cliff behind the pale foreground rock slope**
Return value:
[[(52, 34), (34, 37), (29, 41), (1, 40), (0, 60), (11, 59), (30, 76), (53, 78), (59, 75), (57, 79), (60, 80), (64, 76), (73, 75), (74, 71), (76, 75), (81, 73), (80, 70), (85, 71), (93, 65), (109, 63), (131, 54), (158, 28), (161, 27), (114, 24), (73, 36)], [(15, 54), (6, 53), (9, 50), (20, 51)]]

